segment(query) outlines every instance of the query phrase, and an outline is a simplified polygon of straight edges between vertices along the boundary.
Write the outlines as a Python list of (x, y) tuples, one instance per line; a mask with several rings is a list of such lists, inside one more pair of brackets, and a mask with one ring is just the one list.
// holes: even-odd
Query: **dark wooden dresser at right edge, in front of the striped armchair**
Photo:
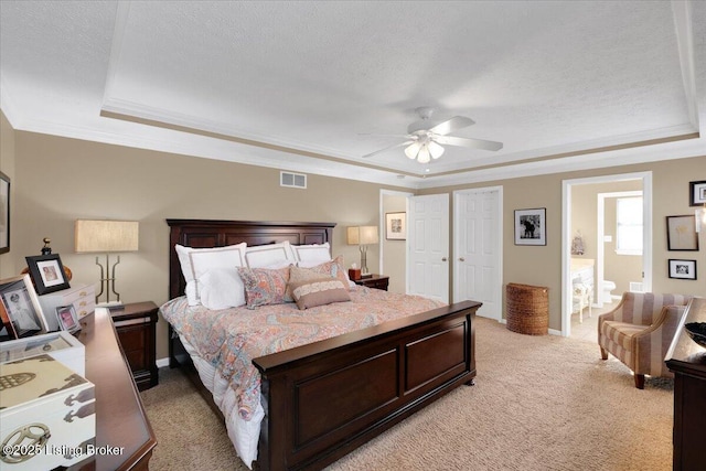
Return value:
[(706, 349), (694, 342), (684, 329), (688, 322), (706, 322), (706, 298), (689, 301), (666, 354), (674, 373), (675, 471), (704, 469), (704, 424), (706, 424)]

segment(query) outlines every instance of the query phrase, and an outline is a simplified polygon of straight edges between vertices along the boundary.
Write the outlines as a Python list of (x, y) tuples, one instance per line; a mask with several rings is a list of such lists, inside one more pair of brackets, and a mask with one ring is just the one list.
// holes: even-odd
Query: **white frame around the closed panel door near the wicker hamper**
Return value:
[(451, 270), (451, 275), (453, 277), (452, 282), (451, 282), (451, 289), (452, 289), (452, 296), (451, 299), (453, 300), (453, 302), (458, 302), (459, 299), (457, 299), (457, 295), (458, 295), (458, 290), (456, 289), (456, 282), (459, 279), (458, 277), (458, 270), (459, 270), (459, 264), (458, 261), (458, 257), (456, 256), (456, 254), (459, 253), (458, 250), (458, 244), (460, 244), (460, 236), (459, 236), (459, 221), (460, 221), (460, 215), (459, 215), (459, 204), (457, 204), (457, 199), (460, 194), (479, 194), (479, 193), (488, 193), (488, 192), (494, 192), (498, 194), (498, 206), (496, 206), (496, 221), (498, 221), (498, 225), (495, 226), (495, 231), (498, 231), (498, 233), (495, 234), (495, 236), (498, 237), (499, 244), (498, 244), (498, 253), (496, 253), (496, 257), (495, 257), (495, 263), (498, 264), (498, 270), (496, 270), (496, 276), (495, 279), (492, 280), (493, 283), (495, 283), (495, 286), (499, 286), (501, 288), (499, 288), (495, 292), (495, 299), (493, 299), (493, 302), (495, 303), (495, 306), (498, 306), (499, 312), (495, 315), (489, 317), (489, 319), (494, 319), (496, 321), (501, 321), (502, 320), (502, 306), (503, 306), (503, 295), (502, 295), (502, 286), (503, 286), (503, 186), (502, 185), (496, 185), (496, 186), (483, 186), (483, 188), (473, 188), (473, 189), (466, 189), (466, 190), (457, 190), (453, 192), (453, 218), (452, 218), (452, 225), (453, 225), (453, 243), (451, 244), (452, 247), (452, 254), (453, 254), (453, 265), (452, 265), (452, 270)]

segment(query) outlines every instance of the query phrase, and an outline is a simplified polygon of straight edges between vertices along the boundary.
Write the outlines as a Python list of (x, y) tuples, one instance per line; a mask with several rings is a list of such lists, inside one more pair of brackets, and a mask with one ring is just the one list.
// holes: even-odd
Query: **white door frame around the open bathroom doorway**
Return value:
[[(652, 172), (620, 173), (561, 181), (561, 335), (571, 334), (571, 188), (575, 184), (642, 180), (642, 267), (644, 289), (652, 290)], [(600, 289), (599, 287), (597, 287)], [(596, 289), (596, 288), (595, 288)]]

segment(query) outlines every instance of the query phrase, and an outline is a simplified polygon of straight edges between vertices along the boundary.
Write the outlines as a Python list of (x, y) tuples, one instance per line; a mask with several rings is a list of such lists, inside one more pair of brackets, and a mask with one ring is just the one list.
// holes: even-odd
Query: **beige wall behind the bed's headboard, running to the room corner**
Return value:
[[(168, 300), (169, 227), (165, 218), (334, 222), (333, 254), (360, 263), (345, 243), (349, 225), (379, 221), (377, 184), (308, 176), (308, 189), (279, 186), (279, 170), (15, 131), (15, 237), (12, 274), (42, 238), (74, 272), (96, 283), (95, 257), (74, 253), (76, 218), (140, 222), (140, 249), (121, 255), (117, 290), (125, 302)], [(392, 189), (398, 190), (398, 189)], [(378, 270), (378, 248), (368, 267)], [(4, 265), (4, 264), (3, 264)], [(4, 268), (3, 268), (4, 269)], [(158, 357), (167, 356), (167, 325), (158, 324)]]

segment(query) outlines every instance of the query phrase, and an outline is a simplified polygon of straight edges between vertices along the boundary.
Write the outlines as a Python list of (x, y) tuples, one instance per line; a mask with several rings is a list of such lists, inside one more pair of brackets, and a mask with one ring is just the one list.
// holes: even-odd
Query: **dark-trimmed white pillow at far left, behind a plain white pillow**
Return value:
[(186, 280), (186, 299), (189, 306), (197, 306), (201, 300), (199, 279), (213, 268), (235, 268), (245, 266), (247, 244), (228, 245), (213, 248), (192, 248), (175, 245), (181, 265), (181, 272)]

